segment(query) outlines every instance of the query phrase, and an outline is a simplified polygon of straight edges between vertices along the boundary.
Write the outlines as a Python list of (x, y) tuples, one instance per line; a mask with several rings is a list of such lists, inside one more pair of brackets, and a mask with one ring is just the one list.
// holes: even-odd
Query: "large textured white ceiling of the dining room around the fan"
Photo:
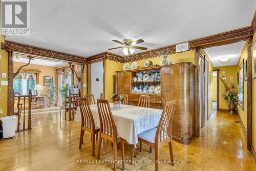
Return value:
[(151, 50), (248, 26), (255, 8), (255, 0), (33, 0), (30, 36), (7, 40), (84, 57), (118, 47), (112, 39), (142, 38)]

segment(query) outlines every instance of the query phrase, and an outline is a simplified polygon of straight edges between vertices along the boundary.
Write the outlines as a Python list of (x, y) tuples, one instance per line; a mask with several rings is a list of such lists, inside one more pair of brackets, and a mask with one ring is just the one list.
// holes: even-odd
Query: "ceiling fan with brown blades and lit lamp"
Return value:
[(110, 48), (109, 50), (123, 48), (124, 55), (133, 54), (135, 51), (134, 49), (147, 50), (147, 48), (145, 48), (145, 47), (134, 46), (134, 45), (137, 45), (137, 44), (140, 44), (141, 42), (143, 42), (144, 40), (142, 40), (142, 39), (138, 39), (136, 41), (132, 41), (132, 39), (123, 39), (123, 42), (118, 41), (118, 40), (112, 40), (112, 41), (115, 41), (118, 44), (121, 44), (123, 46), (117, 47), (117, 48)]

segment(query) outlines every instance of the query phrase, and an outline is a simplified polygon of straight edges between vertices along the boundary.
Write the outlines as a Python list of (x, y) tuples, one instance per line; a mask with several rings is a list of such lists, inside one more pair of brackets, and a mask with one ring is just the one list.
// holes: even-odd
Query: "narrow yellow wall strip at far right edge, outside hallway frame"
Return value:
[[(256, 43), (256, 34), (254, 33), (253, 39), (252, 39), (252, 46), (255, 43)], [(254, 73), (253, 59), (252, 59), (252, 73)], [(252, 146), (254, 149), (256, 149), (256, 78), (252, 80)]]

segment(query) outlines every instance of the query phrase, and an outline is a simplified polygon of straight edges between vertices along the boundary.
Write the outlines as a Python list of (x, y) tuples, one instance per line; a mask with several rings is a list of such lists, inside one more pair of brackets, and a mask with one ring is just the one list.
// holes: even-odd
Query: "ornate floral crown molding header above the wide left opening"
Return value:
[[(81, 56), (75, 56), (75, 55), (71, 55), (71, 54), (37, 48), (37, 47), (29, 46), (29, 45), (23, 45), (23, 44), (19, 44), (17, 42), (12, 42), (12, 41), (5, 41), (5, 47), (6, 47), (6, 50), (8, 50), (8, 51), (19, 51), (19, 52), (29, 53), (32, 55), (33, 54), (34, 55), (42, 55), (42, 56), (48, 56), (48, 57), (52, 57), (52, 58), (65, 59), (65, 60), (82, 62), (82, 63), (86, 62), (86, 58), (81, 57)], [(1, 49), (2, 49), (2, 47), (1, 47)]]

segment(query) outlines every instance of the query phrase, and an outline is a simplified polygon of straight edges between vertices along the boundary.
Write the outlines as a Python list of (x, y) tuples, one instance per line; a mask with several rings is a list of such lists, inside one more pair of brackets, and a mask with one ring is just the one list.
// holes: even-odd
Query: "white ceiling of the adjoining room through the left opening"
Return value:
[[(17, 59), (15, 56), (18, 55), (19, 58)], [(13, 61), (15, 62), (22, 62), (22, 63), (28, 63), (29, 58), (26, 55), (21, 55), (21, 54), (13, 54), (14, 58)], [(33, 58), (30, 61), (31, 64), (36, 64), (36, 65), (41, 65), (41, 66), (50, 66), (50, 67), (60, 67), (63, 65), (68, 64), (65, 61), (59, 61), (59, 60), (50, 60), (50, 59), (40, 59), (40, 58)], [(28, 66), (29, 67), (29, 66)]]

